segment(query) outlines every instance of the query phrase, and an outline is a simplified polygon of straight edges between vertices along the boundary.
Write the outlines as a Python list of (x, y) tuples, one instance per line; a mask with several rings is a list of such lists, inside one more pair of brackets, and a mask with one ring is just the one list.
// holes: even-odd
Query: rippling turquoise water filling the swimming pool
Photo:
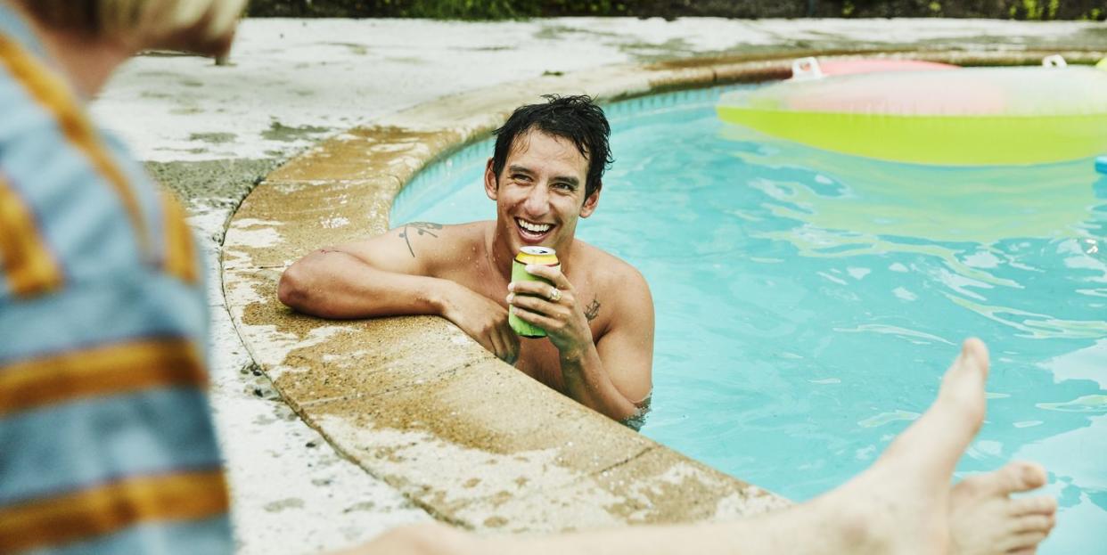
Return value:
[[(828, 154), (720, 123), (718, 94), (610, 106), (617, 161), (578, 228), (653, 291), (642, 433), (810, 499), (869, 465), (975, 335), (993, 357), (989, 412), (959, 477), (1044, 463), (1062, 509), (1039, 553), (1104, 553), (1107, 177), (1090, 159)], [(393, 223), (493, 217), (490, 154), (486, 142), (422, 172)]]

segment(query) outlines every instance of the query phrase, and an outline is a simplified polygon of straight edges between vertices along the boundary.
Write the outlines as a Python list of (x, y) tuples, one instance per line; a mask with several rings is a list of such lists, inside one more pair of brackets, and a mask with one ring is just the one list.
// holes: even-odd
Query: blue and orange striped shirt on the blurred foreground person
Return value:
[(198, 249), (0, 2), (0, 553), (230, 553)]

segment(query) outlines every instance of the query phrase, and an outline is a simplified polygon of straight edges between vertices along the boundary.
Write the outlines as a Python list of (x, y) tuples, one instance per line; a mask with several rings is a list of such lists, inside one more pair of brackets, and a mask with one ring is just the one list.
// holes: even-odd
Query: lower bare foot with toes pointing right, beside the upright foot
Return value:
[(1011, 499), (1011, 494), (1041, 488), (1045, 481), (1045, 469), (1030, 462), (1012, 462), (962, 480), (950, 492), (953, 553), (1033, 553), (1053, 528), (1057, 501)]

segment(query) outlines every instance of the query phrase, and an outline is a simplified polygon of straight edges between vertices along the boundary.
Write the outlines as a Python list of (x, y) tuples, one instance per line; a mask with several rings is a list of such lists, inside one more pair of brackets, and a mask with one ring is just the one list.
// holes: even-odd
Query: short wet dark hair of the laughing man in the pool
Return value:
[(507, 123), (494, 132), (496, 151), (492, 169), (496, 172), (496, 179), (504, 171), (515, 139), (528, 132), (540, 130), (571, 140), (577, 150), (588, 159), (588, 175), (584, 179), (584, 198), (588, 198), (600, 188), (603, 171), (614, 161), (608, 147), (608, 137), (611, 135), (608, 118), (590, 96), (546, 94), (542, 98), (547, 101), (545, 104), (527, 104), (515, 108)]

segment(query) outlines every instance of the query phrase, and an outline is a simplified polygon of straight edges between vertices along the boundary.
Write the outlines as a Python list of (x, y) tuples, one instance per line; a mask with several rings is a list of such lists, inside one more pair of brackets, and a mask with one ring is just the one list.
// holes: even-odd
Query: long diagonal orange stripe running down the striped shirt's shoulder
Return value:
[(33, 55), (3, 35), (0, 35), (0, 65), (7, 67), (31, 97), (53, 114), (65, 138), (112, 185), (135, 228), (139, 248), (149, 254), (149, 237), (138, 199), (69, 86)]

